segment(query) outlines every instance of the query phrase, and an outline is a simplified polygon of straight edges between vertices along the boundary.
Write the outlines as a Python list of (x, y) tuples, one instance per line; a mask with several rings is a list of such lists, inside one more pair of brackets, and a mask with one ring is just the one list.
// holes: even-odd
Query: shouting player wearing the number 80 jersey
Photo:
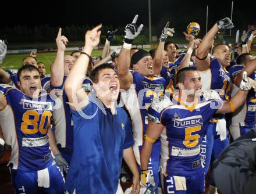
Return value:
[(47, 193), (63, 193), (66, 189), (60, 168), (66, 170), (67, 163), (51, 130), (54, 100), (38, 92), (41, 78), (37, 67), (25, 65), (17, 77), (20, 90), (0, 87), (0, 124), (6, 143), (12, 146), (9, 167), (15, 192), (37, 193), (40, 186)]

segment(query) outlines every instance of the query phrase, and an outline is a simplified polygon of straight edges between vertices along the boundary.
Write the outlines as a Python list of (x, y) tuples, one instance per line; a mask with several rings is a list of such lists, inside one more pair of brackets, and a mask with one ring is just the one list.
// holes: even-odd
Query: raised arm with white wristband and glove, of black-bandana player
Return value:
[(131, 75), (129, 68), (130, 68), (130, 52), (131, 52), (131, 43), (133, 39), (136, 38), (142, 28), (143, 24), (140, 24), (137, 27), (136, 22), (138, 19), (138, 15), (136, 15), (131, 22), (131, 24), (127, 24), (125, 27), (125, 39), (123, 43), (123, 48), (120, 51), (118, 57), (118, 79), (120, 81), (120, 88), (128, 90), (130, 85), (133, 83), (133, 76)]

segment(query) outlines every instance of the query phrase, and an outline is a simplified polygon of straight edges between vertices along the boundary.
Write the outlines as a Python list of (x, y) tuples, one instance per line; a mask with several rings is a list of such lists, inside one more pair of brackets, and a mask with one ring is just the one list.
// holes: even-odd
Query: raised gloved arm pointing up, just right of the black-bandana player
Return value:
[(166, 23), (165, 27), (162, 30), (161, 37), (159, 38), (159, 44), (157, 50), (155, 51), (154, 58), (154, 74), (159, 75), (161, 73), (163, 58), (165, 55), (165, 40), (168, 36), (172, 37), (175, 33), (174, 28), (169, 28), (169, 21)]

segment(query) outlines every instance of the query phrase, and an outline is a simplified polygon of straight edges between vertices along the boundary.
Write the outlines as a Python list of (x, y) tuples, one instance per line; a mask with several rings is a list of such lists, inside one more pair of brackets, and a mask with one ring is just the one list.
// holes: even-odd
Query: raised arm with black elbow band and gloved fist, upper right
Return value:
[(208, 31), (208, 33), (202, 39), (200, 46), (197, 51), (197, 70), (206, 71), (209, 69), (210, 58), (208, 52), (214, 44), (214, 37), (220, 29), (230, 29), (233, 28), (233, 23), (229, 18), (225, 18), (217, 21), (216, 24)]

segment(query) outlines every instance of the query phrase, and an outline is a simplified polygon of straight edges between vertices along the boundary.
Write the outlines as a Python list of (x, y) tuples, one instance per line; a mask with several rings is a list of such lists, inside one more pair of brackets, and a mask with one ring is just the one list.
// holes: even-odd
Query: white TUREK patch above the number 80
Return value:
[(38, 102), (38, 101), (23, 99), (23, 109), (52, 110), (52, 103), (51, 102)]

